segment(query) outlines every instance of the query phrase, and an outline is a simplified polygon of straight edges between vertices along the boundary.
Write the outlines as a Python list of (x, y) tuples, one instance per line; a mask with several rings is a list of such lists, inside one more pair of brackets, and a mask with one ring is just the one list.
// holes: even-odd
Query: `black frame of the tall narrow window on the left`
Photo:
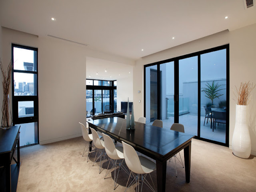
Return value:
[[(14, 61), (14, 47), (28, 49), (36, 51), (36, 71), (24, 71), (24, 70), (15, 70), (14, 63), (12, 65), (12, 116), (13, 116), (13, 124), (25, 124), (25, 123), (32, 123), (37, 122), (37, 140), (38, 142), (35, 144), (39, 144), (39, 114), (38, 114), (38, 48), (23, 46), (18, 44), (12, 44), (12, 61)], [(36, 79), (34, 78), (34, 82), (36, 82), (36, 95), (35, 96), (14, 96), (14, 72), (21, 72), (27, 74), (36, 74)], [(34, 90), (35, 91), (35, 90)], [(18, 117), (18, 102), (20, 101), (33, 101), (34, 102), (34, 116), (32, 117)], [(34, 144), (30, 144), (34, 145)]]

